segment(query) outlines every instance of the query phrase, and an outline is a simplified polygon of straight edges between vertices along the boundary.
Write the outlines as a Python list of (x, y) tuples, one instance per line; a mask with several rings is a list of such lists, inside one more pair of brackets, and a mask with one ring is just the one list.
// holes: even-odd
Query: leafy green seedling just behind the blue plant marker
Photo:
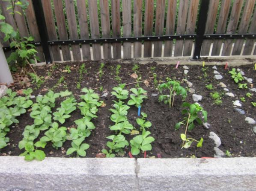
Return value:
[(148, 98), (146, 96), (147, 91), (143, 90), (141, 87), (131, 88), (130, 90), (134, 95), (130, 95), (130, 100), (128, 101), (128, 105), (135, 105), (137, 108), (141, 107), (141, 104), (143, 103), (143, 99)]

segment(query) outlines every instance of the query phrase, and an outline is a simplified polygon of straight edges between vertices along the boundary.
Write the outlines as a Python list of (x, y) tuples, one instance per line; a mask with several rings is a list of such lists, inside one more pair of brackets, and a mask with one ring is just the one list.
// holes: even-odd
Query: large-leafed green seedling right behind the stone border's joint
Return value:
[(152, 136), (149, 136), (151, 133), (149, 131), (143, 130), (142, 135), (135, 136), (131, 141), (131, 153), (133, 155), (138, 155), (140, 150), (152, 150), (151, 143), (155, 141)]

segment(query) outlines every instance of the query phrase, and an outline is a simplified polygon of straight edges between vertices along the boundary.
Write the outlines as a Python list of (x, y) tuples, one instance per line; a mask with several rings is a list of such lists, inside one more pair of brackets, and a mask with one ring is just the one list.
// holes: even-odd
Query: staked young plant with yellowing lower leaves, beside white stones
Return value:
[[(186, 125), (185, 133), (181, 134), (181, 139), (183, 141), (182, 148), (189, 148), (191, 146), (191, 143), (196, 140), (192, 138), (187, 138), (187, 131), (193, 130), (193, 128), (195, 127), (194, 122), (197, 122), (198, 124), (207, 122), (207, 112), (203, 110), (203, 108), (199, 106), (199, 104), (189, 104), (188, 102), (185, 102), (182, 104), (182, 107), (188, 108), (182, 110), (182, 114), (187, 114), (188, 117), (185, 117), (182, 122), (177, 123), (175, 125), (175, 130), (178, 130), (182, 124)], [(196, 142), (198, 142), (197, 147), (202, 147), (203, 138), (201, 138), (200, 141)]]

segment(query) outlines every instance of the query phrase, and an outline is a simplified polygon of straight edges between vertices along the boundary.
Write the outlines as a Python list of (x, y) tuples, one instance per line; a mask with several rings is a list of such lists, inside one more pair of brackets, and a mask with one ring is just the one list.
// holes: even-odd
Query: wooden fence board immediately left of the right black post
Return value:
[[(186, 35), (193, 35), (196, 29), (196, 18), (199, 0), (191, 0), (188, 10), (188, 21)], [(185, 40), (183, 48), (183, 56), (190, 56), (193, 46), (193, 40)]]

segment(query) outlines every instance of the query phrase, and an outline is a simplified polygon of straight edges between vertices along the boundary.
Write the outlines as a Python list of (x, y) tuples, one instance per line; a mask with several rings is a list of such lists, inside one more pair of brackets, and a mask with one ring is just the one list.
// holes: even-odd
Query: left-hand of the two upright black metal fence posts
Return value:
[(46, 64), (51, 64), (51, 54), (50, 49), (48, 46), (48, 32), (47, 32), (47, 26), (45, 23), (45, 14), (42, 6), (41, 0), (33, 0), (33, 7), (36, 14), (36, 23), (39, 30), (39, 35), (41, 38), (41, 44), (43, 47), (44, 55), (45, 55), (45, 62)]

